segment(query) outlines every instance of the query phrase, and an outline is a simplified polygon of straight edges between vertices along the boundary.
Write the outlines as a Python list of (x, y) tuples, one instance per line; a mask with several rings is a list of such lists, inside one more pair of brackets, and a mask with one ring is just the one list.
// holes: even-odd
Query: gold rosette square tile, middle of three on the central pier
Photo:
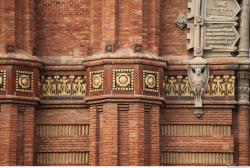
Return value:
[(134, 70), (113, 70), (113, 90), (134, 90)]

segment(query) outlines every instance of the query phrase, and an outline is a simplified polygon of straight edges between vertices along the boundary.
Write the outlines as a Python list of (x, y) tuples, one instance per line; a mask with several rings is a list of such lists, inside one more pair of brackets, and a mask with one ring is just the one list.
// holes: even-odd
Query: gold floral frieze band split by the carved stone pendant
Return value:
[[(187, 76), (165, 76), (165, 96), (193, 96), (193, 91)], [(205, 92), (206, 96), (234, 96), (235, 76), (210, 76)]]

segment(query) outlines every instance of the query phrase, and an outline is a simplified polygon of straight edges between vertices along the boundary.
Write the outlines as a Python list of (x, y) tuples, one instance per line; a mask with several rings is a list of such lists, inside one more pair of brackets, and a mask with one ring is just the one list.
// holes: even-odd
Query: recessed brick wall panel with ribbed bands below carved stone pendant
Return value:
[[(168, 128), (161, 128), (161, 153), (210, 153), (207, 158), (203, 156), (191, 163), (194, 165), (230, 165), (233, 160), (223, 162), (220, 160), (209, 161), (209, 157), (215, 153), (232, 155), (234, 153), (234, 136), (232, 134), (232, 110), (231, 109), (206, 109), (201, 119), (193, 114), (194, 109), (170, 109), (161, 112), (160, 124)], [(172, 157), (173, 156), (168, 156)], [(184, 156), (183, 156), (184, 157)], [(222, 157), (222, 156), (217, 156)], [(210, 159), (211, 159), (210, 158)], [(225, 157), (226, 158), (226, 157)], [(226, 160), (224, 158), (224, 160)], [(203, 160), (203, 161), (202, 161)], [(190, 165), (190, 162), (180, 160), (168, 161), (177, 165)], [(164, 161), (162, 160), (162, 164)], [(166, 163), (165, 163), (166, 164)]]

